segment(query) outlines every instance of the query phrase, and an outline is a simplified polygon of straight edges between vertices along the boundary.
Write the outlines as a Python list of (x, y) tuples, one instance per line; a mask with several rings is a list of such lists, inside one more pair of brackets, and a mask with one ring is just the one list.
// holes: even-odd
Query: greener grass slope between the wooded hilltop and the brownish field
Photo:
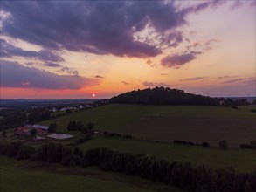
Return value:
[(233, 118), (253, 119), (255, 113), (240, 111), (221, 106), (142, 106), (111, 104), (100, 106), (86, 111), (77, 112), (58, 119), (41, 122), (50, 125), (55, 122), (59, 130), (66, 131), (70, 120), (80, 120), (83, 123), (92, 121), (98, 130), (114, 130), (127, 125), (141, 117), (173, 117), (173, 118)]

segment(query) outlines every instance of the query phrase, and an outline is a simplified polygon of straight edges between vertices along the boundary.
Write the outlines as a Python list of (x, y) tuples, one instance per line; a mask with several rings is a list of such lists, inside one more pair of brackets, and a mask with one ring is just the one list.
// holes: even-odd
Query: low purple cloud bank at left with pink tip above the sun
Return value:
[(1, 61), (1, 87), (42, 89), (80, 89), (95, 86), (100, 81), (78, 75), (57, 75), (52, 72), (25, 67), (17, 62)]

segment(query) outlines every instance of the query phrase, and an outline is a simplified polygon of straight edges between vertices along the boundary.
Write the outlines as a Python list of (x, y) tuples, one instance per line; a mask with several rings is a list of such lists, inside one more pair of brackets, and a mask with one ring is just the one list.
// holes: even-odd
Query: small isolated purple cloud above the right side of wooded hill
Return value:
[(184, 65), (186, 63), (189, 63), (191, 60), (194, 60), (196, 58), (195, 53), (185, 53), (182, 55), (171, 55), (162, 58), (161, 65), (165, 67), (173, 67), (173, 68), (179, 68), (181, 65)]

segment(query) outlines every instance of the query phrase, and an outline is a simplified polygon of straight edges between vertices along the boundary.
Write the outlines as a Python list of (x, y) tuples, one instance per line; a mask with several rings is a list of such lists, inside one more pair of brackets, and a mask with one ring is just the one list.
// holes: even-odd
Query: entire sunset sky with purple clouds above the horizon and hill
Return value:
[(256, 94), (255, 0), (0, 3), (1, 99)]

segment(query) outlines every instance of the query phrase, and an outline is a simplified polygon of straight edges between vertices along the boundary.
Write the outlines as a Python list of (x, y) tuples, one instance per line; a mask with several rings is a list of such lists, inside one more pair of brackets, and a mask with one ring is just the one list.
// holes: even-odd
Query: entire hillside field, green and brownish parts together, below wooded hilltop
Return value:
[(70, 120), (92, 121), (98, 131), (132, 134), (136, 138), (159, 141), (207, 141), (218, 146), (226, 140), (239, 147), (256, 138), (256, 113), (222, 106), (142, 106), (107, 105), (73, 113), (55, 120), (59, 132), (67, 132)]

